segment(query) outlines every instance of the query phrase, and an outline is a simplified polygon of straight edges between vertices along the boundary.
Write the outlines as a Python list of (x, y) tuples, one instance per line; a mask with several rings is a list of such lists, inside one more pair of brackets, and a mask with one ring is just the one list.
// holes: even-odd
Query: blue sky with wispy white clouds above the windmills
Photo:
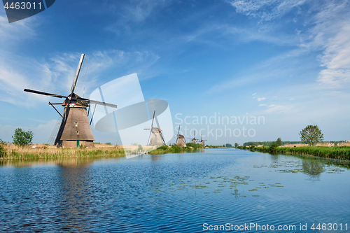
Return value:
[[(57, 99), (23, 89), (68, 93), (85, 53), (78, 94), (137, 73), (145, 99), (166, 100), (174, 127), (205, 129), (209, 144), (299, 141), (315, 124), (326, 141), (349, 140), (349, 13), (349, 1), (57, 0), (8, 24), (0, 9), (0, 139), (21, 127), (48, 141), (58, 118), (48, 101)], [(195, 122), (214, 115), (249, 122)], [(264, 123), (251, 124), (259, 116)]]

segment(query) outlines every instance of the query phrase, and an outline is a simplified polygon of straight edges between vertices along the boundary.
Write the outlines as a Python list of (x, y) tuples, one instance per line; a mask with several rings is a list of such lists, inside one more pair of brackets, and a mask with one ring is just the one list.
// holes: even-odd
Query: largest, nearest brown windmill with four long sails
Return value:
[[(55, 138), (54, 145), (57, 147), (79, 147), (79, 146), (87, 146), (87, 147), (93, 147), (94, 146), (94, 136), (91, 132), (91, 122), (89, 122), (88, 113), (86, 108), (90, 107), (90, 104), (96, 105), (103, 105), (103, 106), (109, 106), (112, 108), (117, 108), (114, 104), (106, 104), (101, 101), (94, 101), (91, 99), (85, 99), (78, 96), (78, 94), (74, 93), (74, 90), (76, 88), (76, 82), (78, 81), (78, 76), (80, 73), (81, 65), (83, 64), (83, 60), (85, 58), (85, 55), (82, 54), (80, 57), (80, 62), (78, 65), (78, 69), (76, 71), (76, 76), (73, 80), (73, 84), (71, 85), (71, 94), (68, 96), (63, 96), (60, 94), (52, 94), (48, 92), (41, 92), (37, 90), (31, 90), (31, 89), (25, 89), (25, 92), (31, 92), (36, 94), (43, 94), (50, 97), (57, 97), (57, 98), (64, 98), (65, 100), (63, 103), (56, 103), (61, 104), (64, 106), (64, 113), (61, 115), (59, 111), (57, 111), (57, 108), (55, 108), (55, 104), (52, 104), (49, 102), (49, 104), (55, 108), (57, 113), (61, 115), (62, 121), (61, 125), (59, 126), (57, 136)], [(89, 108), (90, 110), (90, 108)], [(93, 116), (93, 114), (92, 114)]]

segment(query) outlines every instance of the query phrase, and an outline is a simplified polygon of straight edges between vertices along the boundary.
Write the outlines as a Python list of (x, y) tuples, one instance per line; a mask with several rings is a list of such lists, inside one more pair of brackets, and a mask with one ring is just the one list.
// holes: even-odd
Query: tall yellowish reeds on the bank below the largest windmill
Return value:
[(0, 160), (50, 159), (64, 157), (120, 157), (125, 156), (118, 146), (96, 146), (94, 148), (55, 148), (53, 146), (0, 145)]

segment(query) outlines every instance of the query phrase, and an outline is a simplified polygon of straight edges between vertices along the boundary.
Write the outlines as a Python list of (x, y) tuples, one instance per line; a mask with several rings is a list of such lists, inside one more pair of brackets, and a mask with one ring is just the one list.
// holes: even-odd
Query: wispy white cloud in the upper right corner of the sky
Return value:
[[(267, 21), (272, 21), (286, 15), (291, 10), (298, 13), (294, 22), (302, 20), (304, 29), (295, 26), (295, 38), (289, 40), (299, 49), (295, 56), (309, 51), (323, 51), (318, 56), (321, 66), (316, 80), (326, 88), (349, 87), (350, 73), (350, 2), (349, 1), (278, 1), (278, 0), (230, 0), (237, 13), (252, 17), (260, 17), (260, 28), (269, 27)], [(301, 14), (299, 6), (308, 3), (309, 11)], [(274, 21), (276, 22), (276, 20)], [(271, 23), (270, 23), (271, 24)], [(269, 27), (270, 29), (272, 27)], [(247, 31), (249, 31), (247, 29)], [(255, 33), (258, 36), (259, 33)], [(279, 34), (277, 37), (283, 36)], [(252, 37), (252, 36), (251, 36)], [(271, 36), (273, 37), (273, 36)], [(260, 41), (265, 41), (261, 38)], [(270, 43), (279, 43), (278, 39), (269, 39)], [(279, 43), (280, 44), (280, 43)]]

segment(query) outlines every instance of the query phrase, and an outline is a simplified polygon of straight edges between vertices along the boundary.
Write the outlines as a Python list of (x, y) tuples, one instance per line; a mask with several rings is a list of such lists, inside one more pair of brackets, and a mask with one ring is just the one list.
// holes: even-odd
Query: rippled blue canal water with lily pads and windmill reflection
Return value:
[[(323, 232), (313, 223), (350, 230), (349, 168), (291, 155), (228, 148), (7, 161), (0, 187), (4, 232), (207, 232), (204, 223), (234, 232), (269, 232), (267, 224)], [(234, 228), (251, 223), (262, 228)]]

